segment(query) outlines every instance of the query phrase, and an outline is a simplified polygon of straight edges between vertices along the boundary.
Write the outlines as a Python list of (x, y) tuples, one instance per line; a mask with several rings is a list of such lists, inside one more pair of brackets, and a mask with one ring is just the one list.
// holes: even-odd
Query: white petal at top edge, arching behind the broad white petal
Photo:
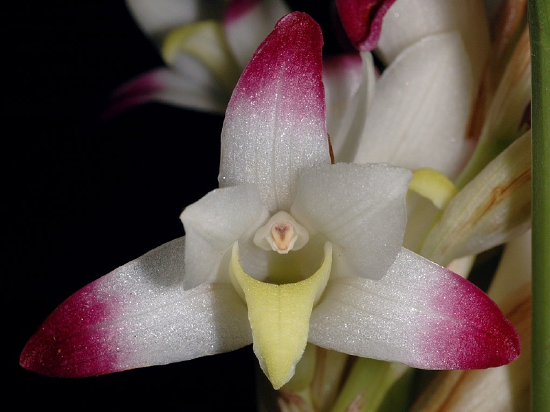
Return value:
[(461, 34), (477, 87), (490, 47), (483, 0), (397, 0), (384, 17), (377, 54), (390, 64), (421, 38), (454, 30)]

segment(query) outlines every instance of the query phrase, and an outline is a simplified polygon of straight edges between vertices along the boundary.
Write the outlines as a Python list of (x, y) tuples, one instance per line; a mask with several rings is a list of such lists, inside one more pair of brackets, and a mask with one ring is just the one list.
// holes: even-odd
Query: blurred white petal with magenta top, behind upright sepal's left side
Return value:
[(243, 69), (281, 17), (291, 10), (282, 0), (234, 0), (223, 16), (228, 43)]

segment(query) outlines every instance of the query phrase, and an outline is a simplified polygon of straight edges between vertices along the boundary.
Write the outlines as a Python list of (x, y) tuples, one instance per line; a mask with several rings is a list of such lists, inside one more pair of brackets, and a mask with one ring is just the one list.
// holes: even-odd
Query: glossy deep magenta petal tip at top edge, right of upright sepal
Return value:
[(351, 43), (361, 51), (376, 47), (382, 19), (395, 0), (337, 0), (340, 21)]

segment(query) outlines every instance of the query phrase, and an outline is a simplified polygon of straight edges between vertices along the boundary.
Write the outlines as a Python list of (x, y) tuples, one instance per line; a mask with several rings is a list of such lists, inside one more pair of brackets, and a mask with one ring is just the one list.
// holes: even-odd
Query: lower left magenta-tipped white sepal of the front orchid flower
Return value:
[(231, 284), (184, 290), (184, 238), (168, 242), (69, 297), (32, 336), (21, 365), (76, 378), (164, 365), (252, 343)]

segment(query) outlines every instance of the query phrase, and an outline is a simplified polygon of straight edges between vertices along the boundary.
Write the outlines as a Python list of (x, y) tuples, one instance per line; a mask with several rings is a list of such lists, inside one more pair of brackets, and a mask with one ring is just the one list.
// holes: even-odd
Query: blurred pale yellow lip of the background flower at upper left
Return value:
[(230, 91), (239, 80), (240, 70), (225, 41), (221, 23), (217, 21), (199, 21), (168, 33), (162, 44), (162, 58), (171, 65), (179, 53), (195, 56)]

